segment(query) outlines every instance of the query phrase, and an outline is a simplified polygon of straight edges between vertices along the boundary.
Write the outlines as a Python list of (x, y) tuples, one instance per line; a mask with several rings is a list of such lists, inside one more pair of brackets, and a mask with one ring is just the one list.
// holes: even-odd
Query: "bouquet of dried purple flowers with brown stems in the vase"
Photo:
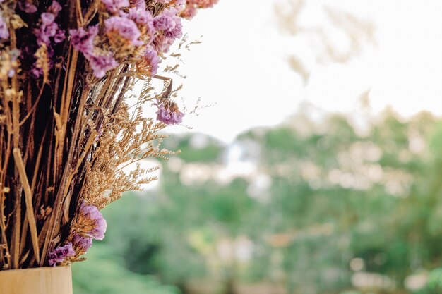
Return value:
[(137, 162), (171, 154), (158, 132), (184, 116), (159, 63), (181, 18), (215, 2), (0, 0), (0, 270), (83, 259), (104, 238), (100, 209), (155, 180)]

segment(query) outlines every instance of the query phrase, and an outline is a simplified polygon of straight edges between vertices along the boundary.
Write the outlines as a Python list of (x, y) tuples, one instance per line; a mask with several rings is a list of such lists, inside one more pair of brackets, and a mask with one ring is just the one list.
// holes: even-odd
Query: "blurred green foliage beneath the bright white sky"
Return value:
[[(181, 169), (165, 162), (158, 190), (104, 209), (107, 238), (74, 274), (76, 294), (102, 293), (87, 278), (117, 271), (139, 289), (108, 293), (177, 291), (157, 281), (191, 293), (201, 279), (221, 281), (218, 293), (251, 281), (293, 294), (442, 293), (442, 122), (392, 111), (363, 132), (342, 115), (294, 121), (239, 136), (239, 161), (254, 168), (230, 178), (220, 176), (229, 147), (202, 135), (169, 142)], [(198, 169), (202, 180), (183, 180)], [(419, 271), (431, 271), (429, 285), (413, 292), (405, 280)], [(395, 286), (358, 288), (354, 274)]]

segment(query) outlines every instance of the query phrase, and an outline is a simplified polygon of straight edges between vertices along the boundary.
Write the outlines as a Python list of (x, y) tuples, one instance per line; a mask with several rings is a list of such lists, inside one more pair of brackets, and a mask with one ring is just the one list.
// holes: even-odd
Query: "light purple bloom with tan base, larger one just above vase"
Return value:
[(83, 236), (103, 240), (107, 223), (100, 210), (94, 205), (89, 205), (83, 201), (76, 223), (76, 230)]

